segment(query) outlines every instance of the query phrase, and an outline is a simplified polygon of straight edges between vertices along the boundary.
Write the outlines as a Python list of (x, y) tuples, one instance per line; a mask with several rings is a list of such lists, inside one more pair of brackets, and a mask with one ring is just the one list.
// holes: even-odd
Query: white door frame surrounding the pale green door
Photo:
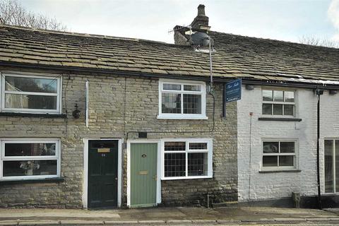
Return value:
[(127, 141), (127, 206), (131, 208), (131, 143), (157, 144), (157, 198), (155, 204), (161, 203), (161, 145), (160, 140), (139, 139)]

